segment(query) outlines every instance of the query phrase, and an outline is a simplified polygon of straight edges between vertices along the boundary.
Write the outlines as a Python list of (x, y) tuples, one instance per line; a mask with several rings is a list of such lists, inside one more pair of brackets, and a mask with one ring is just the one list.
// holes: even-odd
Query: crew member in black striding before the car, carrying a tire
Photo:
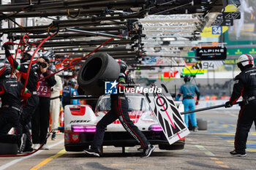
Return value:
[[(127, 64), (124, 61), (118, 61), (120, 66), (120, 74), (118, 77), (118, 88), (124, 88), (122, 84), (127, 82), (127, 75), (125, 71), (127, 70)], [(84, 150), (86, 153), (91, 155), (99, 156), (99, 148), (102, 146), (105, 128), (110, 123), (113, 123), (116, 119), (120, 120), (121, 124), (124, 126), (125, 130), (134, 137), (140, 144), (141, 149), (143, 149), (142, 158), (148, 158), (151, 152), (154, 151), (154, 146), (151, 145), (146, 136), (140, 131), (140, 129), (132, 123), (128, 114), (128, 101), (124, 93), (111, 94), (111, 109), (110, 111), (99, 120), (97, 123), (97, 130), (94, 134), (94, 141), (91, 143), (91, 149)]]

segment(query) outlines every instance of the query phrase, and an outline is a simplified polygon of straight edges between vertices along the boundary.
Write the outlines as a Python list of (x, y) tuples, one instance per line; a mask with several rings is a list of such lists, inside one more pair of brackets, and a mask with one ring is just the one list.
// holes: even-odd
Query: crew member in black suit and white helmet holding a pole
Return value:
[(244, 99), (236, 126), (235, 150), (230, 152), (234, 156), (246, 156), (246, 140), (253, 121), (256, 121), (256, 69), (253, 64), (252, 55), (244, 54), (238, 58), (241, 73), (236, 76), (230, 101), (225, 104), (225, 107), (232, 107), (240, 96)]

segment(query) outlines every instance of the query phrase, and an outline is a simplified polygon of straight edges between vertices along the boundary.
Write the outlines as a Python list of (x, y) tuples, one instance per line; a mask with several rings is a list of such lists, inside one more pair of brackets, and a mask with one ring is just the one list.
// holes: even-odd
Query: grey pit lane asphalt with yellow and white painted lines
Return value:
[(50, 150), (40, 150), (29, 157), (0, 158), (1, 169), (256, 169), (256, 132), (251, 128), (247, 143), (247, 156), (230, 156), (236, 131), (238, 111), (198, 112), (197, 117), (208, 120), (208, 130), (192, 132), (186, 138), (184, 150), (156, 150), (149, 158), (140, 158), (137, 147), (129, 147), (125, 154), (121, 148), (105, 147), (101, 158), (83, 152), (66, 152), (64, 135), (57, 140), (48, 139)]

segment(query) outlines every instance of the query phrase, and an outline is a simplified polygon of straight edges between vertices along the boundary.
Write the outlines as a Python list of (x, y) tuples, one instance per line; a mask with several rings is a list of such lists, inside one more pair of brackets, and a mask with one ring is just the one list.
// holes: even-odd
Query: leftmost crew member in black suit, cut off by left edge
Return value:
[(0, 142), (17, 143), (19, 152), (23, 152), (26, 144), (26, 134), (8, 134), (12, 127), (17, 126), (21, 113), (21, 99), (31, 96), (28, 90), (23, 93), (23, 85), (10, 78), (10, 66), (0, 66)]

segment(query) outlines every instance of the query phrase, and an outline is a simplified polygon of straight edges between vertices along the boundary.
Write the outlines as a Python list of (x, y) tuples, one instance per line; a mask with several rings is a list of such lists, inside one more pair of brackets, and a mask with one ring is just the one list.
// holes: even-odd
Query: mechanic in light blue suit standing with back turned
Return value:
[[(198, 101), (200, 99), (200, 92), (196, 85), (192, 84), (190, 82), (191, 77), (189, 75), (184, 76), (184, 85), (181, 85), (181, 89), (176, 96), (176, 101), (181, 97), (181, 94), (183, 94), (183, 104), (184, 104), (184, 111), (187, 112), (189, 110), (194, 110), (195, 105), (198, 104)], [(195, 101), (194, 96), (195, 93), (197, 94), (197, 101)], [(197, 118), (195, 116), (195, 112), (192, 112), (190, 114), (184, 115), (185, 117), (185, 123), (189, 127), (189, 120), (192, 124), (192, 131), (198, 131), (197, 127)]]

